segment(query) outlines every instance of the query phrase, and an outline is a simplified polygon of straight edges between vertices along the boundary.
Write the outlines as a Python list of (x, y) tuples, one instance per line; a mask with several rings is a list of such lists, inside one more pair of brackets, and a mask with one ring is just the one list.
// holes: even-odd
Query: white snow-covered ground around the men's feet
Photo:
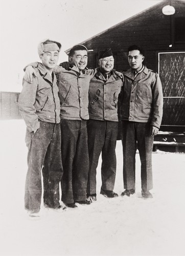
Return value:
[(185, 155), (153, 153), (153, 199), (141, 197), (140, 161), (136, 154), (136, 194), (123, 191), (122, 145), (117, 143), (118, 198), (99, 194), (77, 209), (41, 208), (39, 219), (24, 210), (27, 172), (26, 125), (0, 121), (0, 255), (185, 255)]

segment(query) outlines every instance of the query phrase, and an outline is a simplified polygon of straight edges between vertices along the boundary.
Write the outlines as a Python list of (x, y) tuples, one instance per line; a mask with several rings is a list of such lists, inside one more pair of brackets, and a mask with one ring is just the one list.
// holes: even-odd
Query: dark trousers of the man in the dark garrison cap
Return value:
[(87, 194), (96, 194), (96, 174), (102, 152), (102, 189), (113, 190), (117, 160), (115, 146), (118, 137), (118, 122), (88, 120), (89, 173)]

